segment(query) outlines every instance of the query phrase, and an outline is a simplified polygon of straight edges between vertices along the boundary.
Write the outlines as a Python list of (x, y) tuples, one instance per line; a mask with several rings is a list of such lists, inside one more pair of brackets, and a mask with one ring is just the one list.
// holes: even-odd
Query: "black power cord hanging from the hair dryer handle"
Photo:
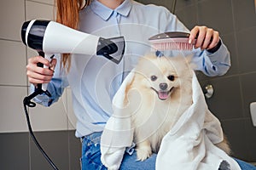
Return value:
[(34, 102), (32, 102), (31, 100), (36, 97), (37, 95), (39, 94), (46, 94), (50, 97), (50, 94), (48, 91), (43, 91), (42, 90), (42, 87), (41, 87), (41, 84), (38, 84), (39, 87), (35, 89), (34, 93), (30, 94), (29, 96), (25, 97), (23, 99), (23, 106), (24, 106), (24, 111), (25, 111), (25, 114), (26, 114), (26, 122), (27, 122), (27, 126), (28, 126), (28, 129), (29, 129), (29, 133), (32, 137), (32, 140), (33, 142), (37, 145), (38, 149), (41, 151), (41, 153), (43, 154), (44, 158), (49, 162), (50, 166), (53, 167), (55, 170), (58, 170), (58, 167), (55, 166), (54, 162), (50, 160), (49, 156), (45, 153), (45, 151), (43, 150), (42, 146), (38, 143), (38, 140), (36, 139), (33, 131), (32, 131), (32, 126), (31, 126), (31, 123), (30, 123), (30, 118), (29, 118), (29, 115), (28, 115), (28, 112), (27, 112), (27, 108), (26, 106), (28, 107), (35, 107), (36, 104)]

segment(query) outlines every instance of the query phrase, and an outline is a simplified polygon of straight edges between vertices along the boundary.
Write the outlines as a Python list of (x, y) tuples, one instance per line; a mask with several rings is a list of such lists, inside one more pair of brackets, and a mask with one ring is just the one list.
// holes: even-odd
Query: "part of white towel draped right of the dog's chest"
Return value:
[(233, 158), (215, 145), (224, 138), (222, 127), (208, 110), (195, 74), (192, 88), (193, 104), (162, 140), (156, 169), (241, 169)]

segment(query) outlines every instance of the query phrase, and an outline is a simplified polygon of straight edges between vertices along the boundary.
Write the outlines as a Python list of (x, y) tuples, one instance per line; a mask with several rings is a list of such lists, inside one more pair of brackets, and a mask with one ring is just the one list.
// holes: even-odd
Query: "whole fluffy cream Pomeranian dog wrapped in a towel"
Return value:
[[(137, 160), (144, 161), (158, 152), (163, 137), (192, 104), (194, 70), (190, 60), (154, 54), (139, 59), (133, 80), (125, 88), (126, 101), (132, 108)], [(219, 147), (230, 152), (226, 141)]]

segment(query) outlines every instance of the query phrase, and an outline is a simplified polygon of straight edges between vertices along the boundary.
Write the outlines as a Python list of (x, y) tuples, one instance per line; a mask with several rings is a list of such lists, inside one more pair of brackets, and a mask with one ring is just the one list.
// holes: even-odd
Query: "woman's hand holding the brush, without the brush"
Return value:
[(195, 48), (212, 49), (219, 41), (218, 31), (214, 31), (207, 26), (195, 26), (190, 32), (189, 42), (193, 42), (195, 37), (197, 37)]

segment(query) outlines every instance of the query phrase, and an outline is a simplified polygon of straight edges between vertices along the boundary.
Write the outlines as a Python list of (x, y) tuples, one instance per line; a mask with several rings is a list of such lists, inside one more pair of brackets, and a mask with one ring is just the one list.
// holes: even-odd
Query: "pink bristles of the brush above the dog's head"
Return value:
[(193, 45), (192, 43), (188, 43), (188, 42), (162, 42), (162, 43), (155, 43), (152, 44), (152, 50), (156, 51), (156, 50), (160, 50), (160, 51), (164, 51), (164, 50), (192, 50), (193, 49)]

